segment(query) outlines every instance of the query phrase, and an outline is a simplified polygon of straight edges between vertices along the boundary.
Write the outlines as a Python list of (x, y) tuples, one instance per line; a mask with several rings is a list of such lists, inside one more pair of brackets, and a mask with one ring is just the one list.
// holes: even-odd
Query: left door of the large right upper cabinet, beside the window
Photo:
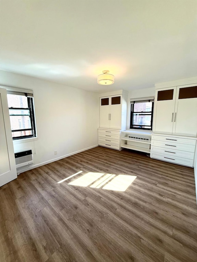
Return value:
[(176, 87), (156, 90), (153, 131), (172, 134), (175, 117)]

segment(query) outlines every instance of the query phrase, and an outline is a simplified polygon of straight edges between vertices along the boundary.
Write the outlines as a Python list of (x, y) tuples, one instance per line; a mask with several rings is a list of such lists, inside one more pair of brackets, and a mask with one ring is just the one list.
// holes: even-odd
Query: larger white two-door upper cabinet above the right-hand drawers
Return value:
[(153, 132), (197, 135), (197, 84), (156, 89)]

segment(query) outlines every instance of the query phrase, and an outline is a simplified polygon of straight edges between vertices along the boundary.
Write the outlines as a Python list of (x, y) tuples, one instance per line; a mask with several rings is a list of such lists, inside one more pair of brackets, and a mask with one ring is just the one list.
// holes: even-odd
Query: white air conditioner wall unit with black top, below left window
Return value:
[(21, 166), (27, 166), (34, 162), (31, 149), (14, 153), (16, 168)]

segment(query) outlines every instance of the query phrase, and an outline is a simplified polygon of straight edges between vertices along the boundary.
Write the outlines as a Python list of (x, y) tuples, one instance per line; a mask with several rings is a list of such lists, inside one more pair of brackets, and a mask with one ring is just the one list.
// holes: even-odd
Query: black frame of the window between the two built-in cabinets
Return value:
[[(138, 101), (138, 100), (136, 100)], [(143, 103), (147, 102), (147, 100), (141, 100), (141, 102)], [(152, 103), (152, 109), (151, 111), (142, 111), (142, 112), (134, 112), (134, 105), (135, 105), (135, 101), (133, 101), (133, 103), (131, 103), (131, 109), (130, 109), (130, 129), (139, 129), (139, 130), (150, 130), (152, 131), (153, 129), (153, 110), (154, 110), (154, 101), (151, 102)], [(133, 116), (135, 113), (142, 113), (142, 115), (151, 115), (151, 127), (150, 126), (147, 126), (147, 127), (150, 127), (150, 128), (144, 128), (144, 126), (146, 125), (138, 125), (138, 126), (141, 126), (141, 127), (134, 127), (135, 125), (133, 125)], [(145, 113), (150, 113), (150, 114), (145, 114)]]

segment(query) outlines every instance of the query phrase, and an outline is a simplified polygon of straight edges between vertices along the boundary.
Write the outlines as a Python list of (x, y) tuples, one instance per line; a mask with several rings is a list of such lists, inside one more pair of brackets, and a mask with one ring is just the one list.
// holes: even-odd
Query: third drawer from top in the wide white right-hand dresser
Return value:
[(151, 146), (151, 152), (152, 153), (159, 153), (162, 155), (169, 155), (172, 156), (172, 158), (174, 158), (174, 156), (178, 156), (178, 157), (182, 157), (182, 158), (187, 158), (187, 159), (194, 159), (194, 153), (192, 152), (187, 152), (187, 151), (180, 151), (180, 150), (176, 150), (176, 149), (167, 149), (167, 148), (163, 148), (163, 147), (153, 147)]

